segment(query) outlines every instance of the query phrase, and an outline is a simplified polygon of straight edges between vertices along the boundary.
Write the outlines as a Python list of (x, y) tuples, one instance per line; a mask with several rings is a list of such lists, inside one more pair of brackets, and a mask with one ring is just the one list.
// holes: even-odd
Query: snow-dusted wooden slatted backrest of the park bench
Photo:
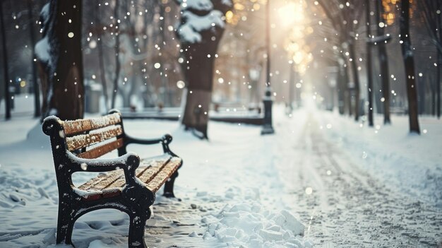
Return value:
[[(99, 158), (124, 146), (124, 129), (119, 112), (75, 121), (61, 121), (56, 118), (50, 123), (52, 126), (48, 128), (54, 129), (54, 125), (56, 125), (55, 129), (59, 131), (58, 135), (64, 139), (64, 142), (61, 143), (52, 142), (52, 150), (54, 150), (54, 146), (61, 146), (56, 147), (56, 150), (63, 152), (63, 148), (66, 148), (79, 158)], [(57, 134), (52, 133), (51, 135)], [(61, 141), (59, 137), (56, 138)]]

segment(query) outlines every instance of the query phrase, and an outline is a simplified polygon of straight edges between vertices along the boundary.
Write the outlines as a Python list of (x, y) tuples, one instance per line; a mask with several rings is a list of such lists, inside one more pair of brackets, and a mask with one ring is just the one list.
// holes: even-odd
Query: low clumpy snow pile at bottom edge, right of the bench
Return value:
[(304, 225), (292, 213), (275, 213), (256, 201), (226, 204), (201, 222), (207, 227), (203, 239), (215, 237), (229, 247), (312, 247), (302, 239)]

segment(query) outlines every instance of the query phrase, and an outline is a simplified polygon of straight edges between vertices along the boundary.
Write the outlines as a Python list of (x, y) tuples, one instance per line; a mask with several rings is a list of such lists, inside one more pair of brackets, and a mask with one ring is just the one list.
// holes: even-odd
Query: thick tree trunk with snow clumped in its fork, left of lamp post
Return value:
[(182, 124), (186, 129), (208, 138), (208, 111), (212, 99), (213, 66), (217, 47), (225, 28), (225, 13), (230, 0), (177, 0), (181, 5), (181, 23), (177, 36), (184, 56), (186, 103)]

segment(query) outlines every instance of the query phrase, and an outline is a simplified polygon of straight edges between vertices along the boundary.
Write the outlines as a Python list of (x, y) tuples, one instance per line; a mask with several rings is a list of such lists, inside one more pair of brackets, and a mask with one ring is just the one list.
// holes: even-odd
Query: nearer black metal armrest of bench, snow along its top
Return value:
[(112, 170), (124, 170), (126, 184), (136, 183), (136, 169), (140, 165), (140, 157), (136, 153), (126, 153), (118, 158), (78, 158), (68, 152), (71, 160), (71, 173), (73, 172), (109, 172)]

